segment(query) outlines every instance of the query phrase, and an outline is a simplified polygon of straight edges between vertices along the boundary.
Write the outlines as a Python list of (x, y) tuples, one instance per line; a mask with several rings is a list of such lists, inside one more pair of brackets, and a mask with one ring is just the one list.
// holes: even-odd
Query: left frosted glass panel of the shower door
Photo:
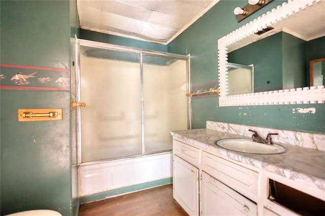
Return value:
[(82, 163), (141, 154), (140, 54), (80, 46)]

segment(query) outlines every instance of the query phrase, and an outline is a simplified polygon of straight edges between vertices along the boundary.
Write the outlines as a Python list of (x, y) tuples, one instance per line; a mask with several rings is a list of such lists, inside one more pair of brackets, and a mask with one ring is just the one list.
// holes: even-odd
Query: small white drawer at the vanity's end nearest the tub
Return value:
[(186, 145), (185, 143), (175, 139), (173, 140), (173, 153), (193, 165), (199, 164), (199, 149)]

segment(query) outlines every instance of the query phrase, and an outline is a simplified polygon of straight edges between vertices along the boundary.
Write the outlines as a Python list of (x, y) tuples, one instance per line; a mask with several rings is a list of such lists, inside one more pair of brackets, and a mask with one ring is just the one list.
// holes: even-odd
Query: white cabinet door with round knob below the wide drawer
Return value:
[(257, 205), (205, 172), (201, 174), (201, 215), (257, 215)]

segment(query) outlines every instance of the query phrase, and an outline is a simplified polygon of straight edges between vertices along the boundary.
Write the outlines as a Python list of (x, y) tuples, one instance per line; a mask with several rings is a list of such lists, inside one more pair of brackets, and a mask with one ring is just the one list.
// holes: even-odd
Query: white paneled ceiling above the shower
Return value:
[(77, 0), (80, 28), (169, 44), (219, 0)]

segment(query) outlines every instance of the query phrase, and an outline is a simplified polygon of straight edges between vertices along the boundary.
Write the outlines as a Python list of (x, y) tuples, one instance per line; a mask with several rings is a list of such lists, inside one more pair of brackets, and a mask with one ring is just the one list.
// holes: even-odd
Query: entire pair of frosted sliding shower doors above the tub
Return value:
[(80, 163), (172, 149), (188, 128), (187, 59), (79, 45)]

